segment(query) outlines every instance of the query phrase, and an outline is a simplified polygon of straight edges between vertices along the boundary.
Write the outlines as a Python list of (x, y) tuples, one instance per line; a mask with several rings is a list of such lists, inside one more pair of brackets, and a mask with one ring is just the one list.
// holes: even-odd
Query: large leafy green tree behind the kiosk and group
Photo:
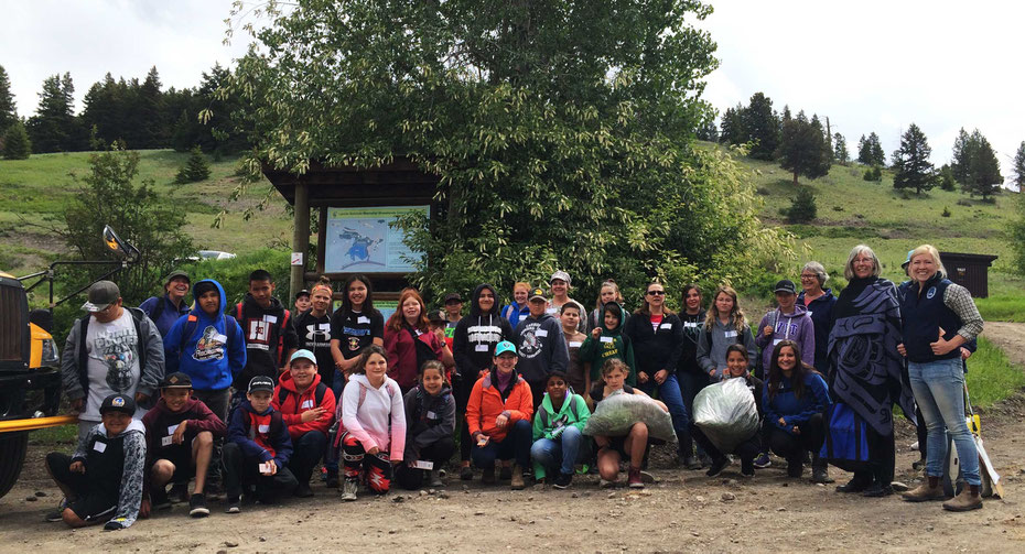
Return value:
[(408, 156), (438, 174), (430, 232), (401, 222), (431, 261), (412, 276), (429, 293), (553, 268), (584, 295), (611, 275), (636, 292), (656, 275), (744, 274), (770, 232), (727, 154), (691, 146), (716, 61), (689, 21), (710, 12), (694, 0), (300, 0), (255, 31), (230, 87), (252, 106), (249, 166)]

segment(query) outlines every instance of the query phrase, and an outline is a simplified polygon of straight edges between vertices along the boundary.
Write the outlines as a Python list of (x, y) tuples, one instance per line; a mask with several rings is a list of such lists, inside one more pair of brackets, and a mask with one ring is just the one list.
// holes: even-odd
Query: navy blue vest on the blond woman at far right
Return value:
[(908, 360), (922, 363), (961, 356), (958, 348), (943, 356), (937, 356), (929, 346), (938, 339), (940, 327), (943, 328), (943, 338), (947, 340), (953, 338), (961, 328), (961, 318), (943, 304), (943, 294), (951, 284), (953, 283), (949, 279), (939, 279), (937, 273), (924, 289), (919, 289), (916, 282), (908, 285), (900, 303), (904, 347), (907, 349)]

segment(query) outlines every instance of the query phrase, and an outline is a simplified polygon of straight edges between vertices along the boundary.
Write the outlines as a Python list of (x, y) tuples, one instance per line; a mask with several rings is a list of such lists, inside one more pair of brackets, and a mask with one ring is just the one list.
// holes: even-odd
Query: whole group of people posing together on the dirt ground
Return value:
[[(893, 493), (893, 405), (909, 419), (917, 405), (926, 479), (904, 498), (980, 508), (962, 359), (982, 318), (968, 291), (946, 279), (934, 247), (908, 252), (905, 268), (900, 285), (882, 279), (878, 259), (860, 245), (835, 297), (824, 268), (809, 262), (801, 291), (779, 281), (776, 307), (754, 328), (727, 285), (708, 307), (698, 285), (684, 286), (677, 313), (652, 282), (628, 312), (608, 280), (589, 313), (570, 297), (563, 271), (550, 291), (516, 283), (506, 306), (481, 284), (466, 315), (457, 293), (431, 311), (407, 289), (387, 321), (364, 275), (345, 281), (334, 311), (328, 280), (290, 311), (262, 270), (234, 306), (216, 281), (193, 284), (182, 272), (139, 308), (100, 281), (62, 359), (79, 441), (73, 456), (46, 458), (65, 495), (48, 519), (122, 529), (172, 499), (207, 515), (207, 495), (220, 493), (226, 511), (238, 513), (244, 501), (312, 496), (319, 465), (343, 500), (355, 500), (360, 485), (374, 493), (392, 481), (440, 487), (456, 443), (462, 480), (476, 468), (484, 484), (565, 488), (594, 471), (611, 485), (625, 468), (628, 486), (644, 487), (649, 447), (659, 442), (647, 422), (616, 436), (587, 432), (592, 414), (617, 394), (668, 412), (688, 469), (715, 476), (733, 455), (749, 477), (774, 452), (795, 478), (810, 458), (817, 482), (832, 481), (822, 445), (842, 404), (864, 425), (867, 456), (838, 490), (868, 497)], [(692, 409), (704, 388), (733, 379), (751, 391), (760, 424), (723, 452)], [(967, 484), (949, 500), (939, 485), (948, 435)]]

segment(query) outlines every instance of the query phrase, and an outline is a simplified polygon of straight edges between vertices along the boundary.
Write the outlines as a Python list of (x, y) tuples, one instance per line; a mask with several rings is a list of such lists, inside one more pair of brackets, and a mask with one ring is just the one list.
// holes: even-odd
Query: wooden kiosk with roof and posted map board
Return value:
[[(436, 175), (420, 171), (406, 157), (396, 157), (389, 164), (373, 169), (326, 167), (311, 162), (302, 175), (265, 165), (263, 175), (294, 207), (290, 301), (306, 287), (308, 282), (320, 275), (342, 281), (352, 273), (365, 273), (374, 280), (375, 298), (398, 300), (399, 291), (408, 285), (406, 274), (409, 270), (396, 271), (395, 264), (380, 261), (389, 256), (392, 261), (396, 259), (399, 246), (393, 243), (393, 237), (391, 243), (385, 237), (377, 237), (381, 242), (375, 242), (376, 239), (359, 235), (360, 230), (346, 228), (344, 220), (333, 216), (345, 215), (345, 208), (427, 208), (430, 217), (436, 218), (439, 206), (434, 203), (434, 192), (440, 181)], [(310, 250), (310, 214), (314, 209), (319, 210), (316, 263), (311, 267), (306, 252)], [(376, 219), (375, 225), (380, 221)], [(347, 252), (339, 252), (336, 248), (339, 228), (347, 229), (343, 232), (349, 243), (358, 242)], [(343, 260), (346, 256), (349, 263)], [(347, 268), (352, 270), (346, 271)]]

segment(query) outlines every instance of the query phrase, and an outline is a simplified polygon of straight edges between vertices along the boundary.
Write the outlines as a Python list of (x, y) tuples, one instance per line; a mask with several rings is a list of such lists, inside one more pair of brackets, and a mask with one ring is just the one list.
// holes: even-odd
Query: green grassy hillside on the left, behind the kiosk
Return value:
[[(89, 152), (37, 154), (29, 160), (0, 160), (0, 268), (14, 274), (37, 271), (47, 257), (63, 250), (58, 238), (29, 224), (60, 225), (64, 207), (80, 186), (74, 175), (89, 172)], [(187, 153), (171, 150), (140, 151), (139, 182), (152, 178), (188, 216), (188, 232), (202, 249), (249, 252), (291, 240), (291, 219), (284, 205), (274, 204), (249, 221), (242, 219), (247, 207), (256, 206), (267, 191), (265, 185), (250, 187), (237, 202), (228, 197), (236, 185), (236, 160), (212, 162), (211, 178), (201, 183), (176, 185), (174, 175), (185, 164)], [(211, 224), (222, 207), (228, 217), (220, 229)], [(98, 238), (97, 238), (98, 240)]]

